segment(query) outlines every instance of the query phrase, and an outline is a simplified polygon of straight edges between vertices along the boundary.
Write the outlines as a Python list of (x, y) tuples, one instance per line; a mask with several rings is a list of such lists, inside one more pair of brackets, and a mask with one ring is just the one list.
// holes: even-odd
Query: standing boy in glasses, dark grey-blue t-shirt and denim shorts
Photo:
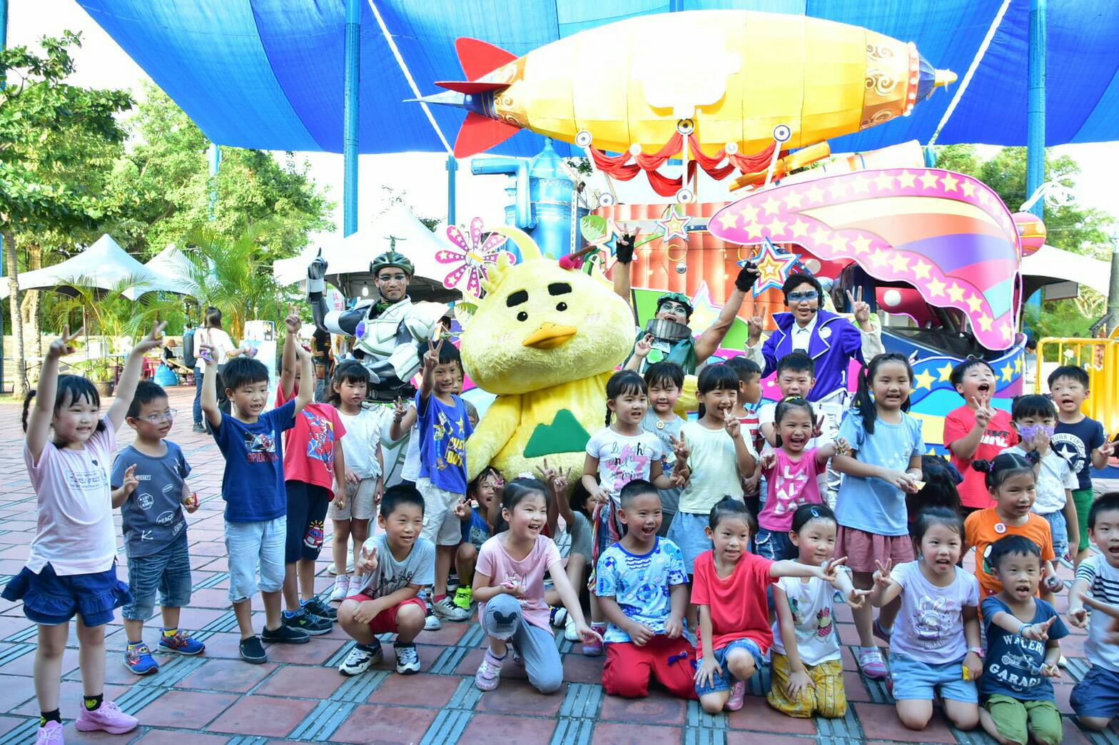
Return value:
[(190, 603), (190, 554), (182, 507), (194, 512), (198, 499), (187, 488), (187, 459), (178, 445), (164, 440), (175, 414), (160, 386), (149, 380), (137, 384), (125, 415), (137, 437), (113, 463), (113, 507), (121, 508), (132, 591), (132, 602), (121, 611), (129, 641), (124, 667), (138, 676), (159, 670), (143, 643), (143, 622), (151, 617), (157, 590), (161, 590), (163, 616), (158, 649), (179, 654), (198, 654), (206, 649), (179, 631), (179, 611)]

